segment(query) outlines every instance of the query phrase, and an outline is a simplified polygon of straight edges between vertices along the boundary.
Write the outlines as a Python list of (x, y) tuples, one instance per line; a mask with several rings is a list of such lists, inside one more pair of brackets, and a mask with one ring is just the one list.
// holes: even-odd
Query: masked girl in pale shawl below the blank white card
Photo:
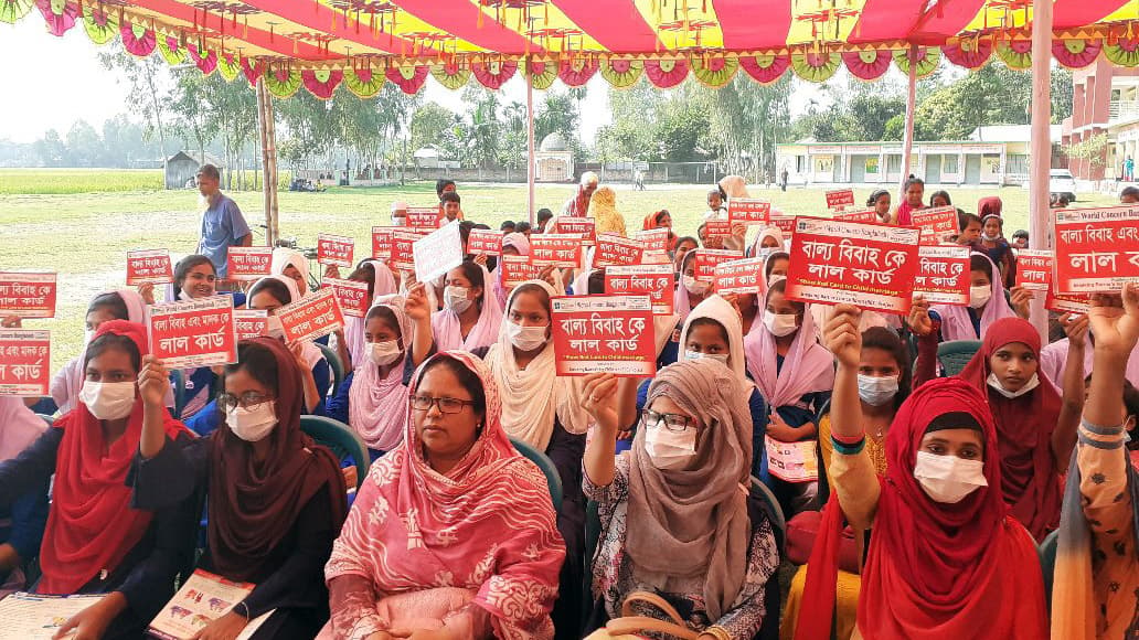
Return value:
[(474, 351), (498, 342), (502, 306), (487, 295), (486, 268), (466, 261), (448, 271), (443, 311), (432, 318), (439, 351)]

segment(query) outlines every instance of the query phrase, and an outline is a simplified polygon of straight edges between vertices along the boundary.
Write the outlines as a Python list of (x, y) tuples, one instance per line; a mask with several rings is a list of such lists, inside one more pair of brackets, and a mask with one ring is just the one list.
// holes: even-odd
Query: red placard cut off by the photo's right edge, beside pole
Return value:
[(1057, 208), (1055, 289), (1118, 293), (1139, 281), (1139, 207)]

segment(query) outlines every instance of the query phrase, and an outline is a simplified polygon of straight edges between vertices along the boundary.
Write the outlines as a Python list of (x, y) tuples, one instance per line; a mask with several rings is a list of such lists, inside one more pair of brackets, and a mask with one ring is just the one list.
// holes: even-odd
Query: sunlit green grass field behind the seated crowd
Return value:
[[(645, 215), (667, 208), (680, 235), (695, 235), (702, 219), (707, 187), (650, 186), (633, 191), (617, 186), (617, 208), (630, 230), (640, 229)], [(826, 215), (823, 189), (752, 189), (789, 214)], [(975, 211), (983, 196), (1005, 200), (1006, 230), (1027, 228), (1027, 190), (949, 189), (954, 204)], [(525, 219), (524, 186), (460, 186), (462, 208), (469, 220), (498, 228), (503, 220)], [(539, 207), (557, 213), (574, 187), (542, 186)], [(263, 224), (260, 192), (230, 194), (251, 225)], [(855, 189), (865, 202), (869, 189)], [(301, 246), (314, 246), (317, 233), (334, 232), (357, 239), (358, 256), (370, 247), (370, 228), (391, 223), (391, 204), (426, 205), (435, 202), (434, 182), (390, 188), (331, 188), (321, 194), (280, 194), (280, 230)], [(1108, 204), (1111, 198), (1089, 196), (1079, 206)], [(83, 312), (100, 290), (121, 286), (125, 252), (167, 248), (175, 256), (197, 247), (200, 223), (197, 191), (161, 190), (161, 174), (113, 170), (0, 170), (0, 270), (49, 270), (60, 276), (59, 309), (55, 320), (28, 321), (30, 328), (52, 330), (52, 364), (73, 358), (82, 343)], [(254, 244), (264, 241), (256, 229)]]

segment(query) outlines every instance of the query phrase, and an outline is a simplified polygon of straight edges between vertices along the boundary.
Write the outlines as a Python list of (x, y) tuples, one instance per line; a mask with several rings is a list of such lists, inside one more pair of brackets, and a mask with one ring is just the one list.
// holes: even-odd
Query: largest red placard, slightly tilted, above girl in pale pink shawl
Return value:
[(919, 235), (912, 227), (798, 218), (790, 245), (787, 297), (909, 313)]

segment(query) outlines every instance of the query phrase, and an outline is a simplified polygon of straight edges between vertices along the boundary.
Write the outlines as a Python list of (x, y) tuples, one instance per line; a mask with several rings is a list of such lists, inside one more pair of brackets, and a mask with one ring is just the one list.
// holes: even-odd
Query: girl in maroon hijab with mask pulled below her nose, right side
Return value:
[[(1083, 336), (1075, 342), (1083, 344)], [(1075, 449), (1084, 395), (1080, 367), (1067, 367), (1062, 400), (1040, 370), (1039, 358), (1036, 329), (1019, 318), (1005, 318), (989, 328), (959, 376), (989, 401), (1005, 502), (1038, 541), (1059, 526), (1060, 474)], [(1082, 362), (1083, 354), (1079, 358)]]

